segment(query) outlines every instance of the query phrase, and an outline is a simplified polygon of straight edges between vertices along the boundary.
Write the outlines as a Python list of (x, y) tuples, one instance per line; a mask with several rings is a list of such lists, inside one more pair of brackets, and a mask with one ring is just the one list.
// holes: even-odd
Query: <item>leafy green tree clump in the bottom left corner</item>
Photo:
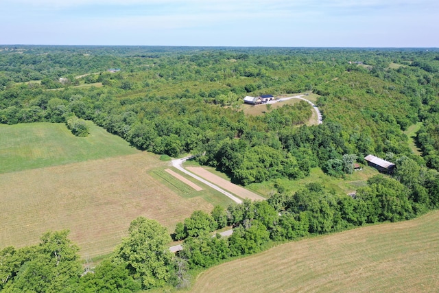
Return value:
[[(1, 251), (2, 292), (75, 292), (82, 273), (69, 231), (48, 232), (38, 246)], [(0, 287), (1, 288), (1, 287)]]

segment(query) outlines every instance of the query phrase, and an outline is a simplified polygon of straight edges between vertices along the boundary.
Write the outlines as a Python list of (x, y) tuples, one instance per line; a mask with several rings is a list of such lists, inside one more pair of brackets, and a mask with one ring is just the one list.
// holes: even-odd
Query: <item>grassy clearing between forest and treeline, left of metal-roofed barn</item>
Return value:
[[(344, 179), (334, 178), (324, 174), (322, 169), (316, 167), (311, 169), (311, 173), (306, 178), (299, 180), (281, 179), (279, 182), (289, 193), (294, 193), (309, 183), (319, 183), (326, 189), (333, 190), (336, 194), (349, 194), (357, 190), (358, 187), (366, 186), (368, 178), (376, 174), (379, 174), (377, 169), (365, 166), (361, 171), (355, 171), (351, 175), (346, 175)], [(248, 189), (257, 191), (265, 196), (269, 196), (276, 191), (273, 182), (253, 183), (248, 185)]]

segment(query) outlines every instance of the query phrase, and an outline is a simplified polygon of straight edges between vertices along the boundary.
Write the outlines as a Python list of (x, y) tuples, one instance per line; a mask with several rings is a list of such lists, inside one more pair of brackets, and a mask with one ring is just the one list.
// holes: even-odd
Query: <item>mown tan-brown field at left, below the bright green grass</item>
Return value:
[(0, 248), (37, 244), (69, 229), (82, 257), (109, 253), (143, 215), (169, 230), (212, 204), (182, 198), (149, 172), (166, 162), (147, 153), (0, 174)]

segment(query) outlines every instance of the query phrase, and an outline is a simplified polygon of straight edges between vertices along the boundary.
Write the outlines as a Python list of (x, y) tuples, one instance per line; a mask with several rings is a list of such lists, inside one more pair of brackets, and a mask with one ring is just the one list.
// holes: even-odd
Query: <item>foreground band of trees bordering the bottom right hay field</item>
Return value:
[[(377, 222), (409, 220), (439, 207), (439, 174), (408, 158), (393, 178), (377, 175), (355, 196), (336, 195), (311, 183), (294, 194), (194, 211), (172, 234), (183, 250), (169, 252), (169, 231), (137, 218), (128, 237), (95, 268), (82, 268), (68, 231), (46, 233), (38, 246), (0, 250), (1, 292), (137, 292), (187, 288), (193, 270), (258, 253), (273, 244)], [(230, 237), (211, 232), (233, 226)]]

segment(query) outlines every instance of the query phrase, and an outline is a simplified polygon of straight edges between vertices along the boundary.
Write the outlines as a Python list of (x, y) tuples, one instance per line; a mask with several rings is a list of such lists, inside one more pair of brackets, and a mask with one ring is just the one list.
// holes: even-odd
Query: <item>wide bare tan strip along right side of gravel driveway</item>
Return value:
[(230, 191), (231, 193), (239, 196), (240, 198), (248, 198), (250, 200), (265, 200), (262, 196), (258, 196), (252, 191), (249, 191), (239, 185), (230, 183), (228, 180), (223, 179), (202, 167), (187, 167), (190, 172), (201, 176), (202, 178), (210, 181), (211, 183), (218, 185), (219, 187)]

